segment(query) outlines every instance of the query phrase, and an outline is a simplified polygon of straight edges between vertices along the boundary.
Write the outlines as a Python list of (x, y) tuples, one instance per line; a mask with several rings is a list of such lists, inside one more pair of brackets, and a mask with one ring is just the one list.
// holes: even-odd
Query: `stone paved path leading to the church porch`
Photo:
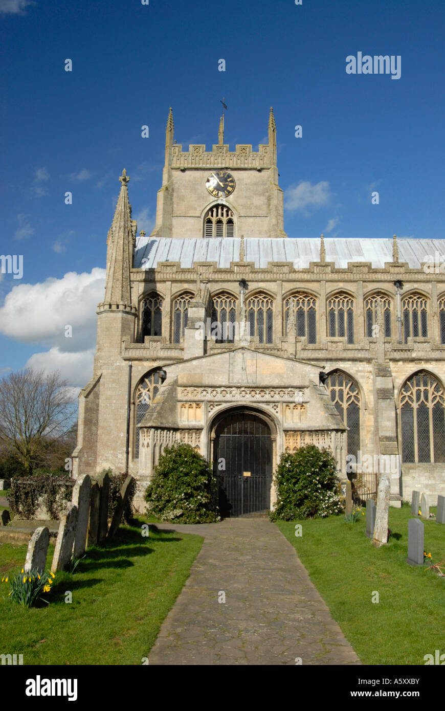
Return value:
[(269, 520), (157, 525), (198, 533), (204, 542), (150, 665), (295, 665), (296, 657), (302, 664), (360, 664), (294, 547)]

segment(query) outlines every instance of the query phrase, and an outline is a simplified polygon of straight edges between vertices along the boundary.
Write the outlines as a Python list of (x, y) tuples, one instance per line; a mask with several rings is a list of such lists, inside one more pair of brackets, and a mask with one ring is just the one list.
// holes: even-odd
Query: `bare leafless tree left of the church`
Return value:
[(60, 370), (28, 368), (0, 380), (0, 444), (29, 473), (48, 439), (64, 437), (73, 422), (73, 395)]

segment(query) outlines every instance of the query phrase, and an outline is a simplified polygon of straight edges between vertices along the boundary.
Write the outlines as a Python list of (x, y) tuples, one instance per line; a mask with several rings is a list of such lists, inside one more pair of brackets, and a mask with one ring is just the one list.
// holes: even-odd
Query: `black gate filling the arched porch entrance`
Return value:
[(272, 437), (264, 419), (232, 412), (215, 429), (214, 471), (223, 516), (242, 516), (270, 507)]

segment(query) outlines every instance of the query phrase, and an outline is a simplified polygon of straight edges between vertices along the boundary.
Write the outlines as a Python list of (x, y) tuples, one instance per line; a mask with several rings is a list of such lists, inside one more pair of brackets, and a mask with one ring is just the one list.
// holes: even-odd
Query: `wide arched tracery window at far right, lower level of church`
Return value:
[(423, 371), (400, 392), (402, 461), (445, 461), (445, 397), (436, 378)]

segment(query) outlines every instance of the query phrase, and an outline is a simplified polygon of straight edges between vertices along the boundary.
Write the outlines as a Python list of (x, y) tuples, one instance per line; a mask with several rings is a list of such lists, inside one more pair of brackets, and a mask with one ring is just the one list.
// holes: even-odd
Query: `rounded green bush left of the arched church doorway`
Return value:
[(190, 444), (166, 447), (146, 491), (149, 513), (176, 523), (220, 520), (213, 471)]

